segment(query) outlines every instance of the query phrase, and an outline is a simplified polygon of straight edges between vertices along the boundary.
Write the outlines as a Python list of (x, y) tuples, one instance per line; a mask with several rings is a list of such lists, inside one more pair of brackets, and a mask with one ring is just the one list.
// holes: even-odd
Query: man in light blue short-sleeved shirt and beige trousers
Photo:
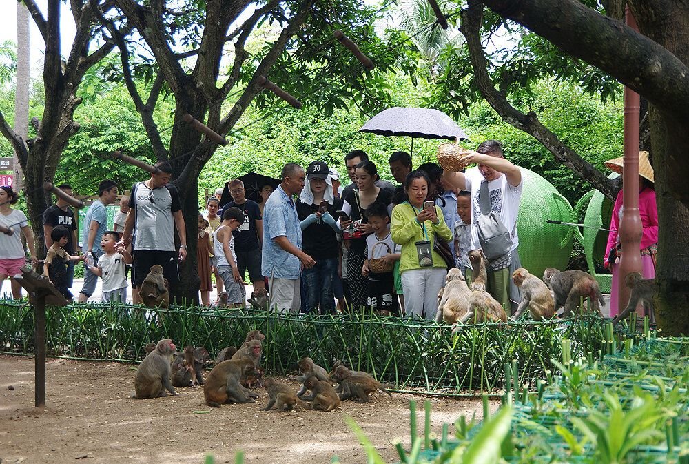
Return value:
[(268, 278), (269, 307), (280, 312), (299, 312), (302, 266), (316, 261), (302, 252), (302, 231), (292, 196), (304, 188), (306, 172), (287, 163), (280, 172), (281, 183), (263, 208), (263, 250), (261, 272)]

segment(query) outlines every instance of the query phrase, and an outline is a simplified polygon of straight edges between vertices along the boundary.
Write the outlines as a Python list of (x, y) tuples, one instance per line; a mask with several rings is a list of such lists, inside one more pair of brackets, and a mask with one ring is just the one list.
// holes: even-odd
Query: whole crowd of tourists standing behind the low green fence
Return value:
[[(247, 199), (240, 179), (230, 181), (226, 189), (232, 201), (220, 204), (223, 189), (219, 189), (207, 199), (205, 214), (198, 216), (201, 302), (212, 304), (214, 274), (223, 303), (246, 305), (248, 274), (254, 292), (267, 291), (269, 307), (283, 312), (334, 314), (369, 308), (379, 314), (434, 319), (447, 270), (459, 268), (471, 281), (467, 255), (481, 248), (479, 218), (493, 214), (509, 232), (511, 243), (499, 256), (489, 256), (486, 290), (514, 310), (521, 301), (511, 275), (521, 267), (516, 225), (522, 173), (495, 140), (469, 151), (464, 161), (476, 166), (448, 172), (424, 163), (414, 169), (407, 152), (393, 152), (389, 169), (395, 186), (380, 179), (379, 167), (365, 152), (353, 150), (345, 156), (351, 181), (345, 188), (338, 171), (323, 161), (313, 161), (306, 169), (287, 163), (276, 188), (258, 186), (259, 202)], [(621, 159), (609, 163), (621, 169)], [(103, 280), (103, 301), (125, 301), (131, 269), (132, 300), (138, 303), (136, 289), (156, 264), (169, 285), (176, 285), (178, 262), (187, 256), (185, 223), (178, 192), (169, 183), (171, 165), (161, 161), (156, 168), (156, 174), (136, 183), (130, 196), (121, 198), (112, 231), (107, 228), (105, 207), (115, 203), (118, 185), (101, 181), (99, 198), (85, 215), (83, 256), (76, 254), (76, 221), (68, 203), (57, 199), (45, 210), (44, 273), (66, 297), (72, 297), (75, 261), (84, 261), (86, 269), (80, 302), (93, 294), (98, 277)], [(655, 274), (657, 248), (650, 164), (647, 168), (641, 173), (639, 200), (644, 276)], [(70, 185), (59, 188), (72, 194)], [(11, 208), (17, 198), (11, 188), (0, 188), (0, 224), (17, 232), (0, 234), (0, 280), (20, 273), (25, 262), (20, 232), (30, 259), (36, 260), (28, 220)], [(621, 252), (617, 223), (623, 210), (620, 195), (606, 253), (606, 265), (613, 272)], [(15, 284), (12, 281), (12, 293), (18, 298), (21, 290)]]

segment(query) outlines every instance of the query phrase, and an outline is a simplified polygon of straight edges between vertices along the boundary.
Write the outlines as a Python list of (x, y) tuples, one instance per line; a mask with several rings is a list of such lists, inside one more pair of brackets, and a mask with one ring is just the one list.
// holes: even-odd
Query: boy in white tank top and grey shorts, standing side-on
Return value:
[(217, 270), (225, 283), (227, 304), (243, 307), (246, 303), (247, 292), (244, 288), (243, 276), (237, 268), (237, 254), (234, 251), (232, 232), (244, 223), (244, 212), (233, 206), (223, 210), (223, 222), (213, 232), (213, 254), (217, 259)]

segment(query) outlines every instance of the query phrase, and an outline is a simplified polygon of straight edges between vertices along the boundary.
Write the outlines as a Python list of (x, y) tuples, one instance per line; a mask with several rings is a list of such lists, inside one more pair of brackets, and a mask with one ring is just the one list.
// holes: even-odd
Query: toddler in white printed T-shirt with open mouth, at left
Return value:
[(101, 248), (103, 254), (95, 266), (89, 270), (103, 279), (103, 302), (125, 303), (127, 301), (127, 277), (125, 265), (132, 263), (132, 255), (123, 245), (116, 246), (120, 236), (117, 232), (103, 234)]

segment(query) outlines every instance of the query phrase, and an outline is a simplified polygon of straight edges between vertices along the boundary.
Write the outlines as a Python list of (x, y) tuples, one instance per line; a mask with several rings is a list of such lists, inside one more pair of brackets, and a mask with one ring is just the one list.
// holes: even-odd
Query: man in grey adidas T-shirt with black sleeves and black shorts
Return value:
[[(132, 187), (130, 210), (119, 243), (129, 246), (134, 236), (133, 292), (138, 292), (151, 266), (157, 264), (163, 268), (170, 295), (174, 297), (179, 282), (177, 263), (187, 257), (187, 230), (179, 193), (169, 183), (172, 165), (169, 161), (158, 161), (154, 166), (158, 168), (157, 174)], [(174, 243), (175, 228), (179, 235), (178, 248)]]

